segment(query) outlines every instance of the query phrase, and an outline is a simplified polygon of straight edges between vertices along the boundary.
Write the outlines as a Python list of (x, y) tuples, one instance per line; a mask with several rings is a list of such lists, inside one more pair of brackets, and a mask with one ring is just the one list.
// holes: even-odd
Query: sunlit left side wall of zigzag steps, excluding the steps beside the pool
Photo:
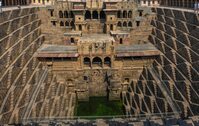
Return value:
[[(41, 64), (33, 57), (44, 38), (37, 8), (17, 9), (0, 15), (0, 120), (22, 116), (34, 89)], [(24, 96), (24, 98), (22, 98)]]

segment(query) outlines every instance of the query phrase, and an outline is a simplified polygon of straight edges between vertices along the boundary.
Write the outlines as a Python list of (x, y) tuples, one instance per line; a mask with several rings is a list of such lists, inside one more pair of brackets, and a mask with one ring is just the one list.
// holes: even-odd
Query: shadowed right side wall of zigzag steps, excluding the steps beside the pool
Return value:
[[(183, 114), (185, 116), (197, 114), (194, 109), (199, 109), (199, 107), (194, 107), (196, 103), (190, 100), (192, 97), (196, 97), (196, 90), (192, 88), (192, 84), (199, 81), (197, 63), (199, 61), (199, 51), (197, 48), (199, 45), (199, 29), (197, 28), (198, 25), (196, 25), (198, 23), (195, 22), (195, 18), (192, 16), (194, 14), (191, 12), (187, 13), (161, 8), (157, 10), (158, 18), (156, 20), (158, 21), (154, 21), (156, 25), (153, 23), (156, 36), (152, 35), (152, 38), (149, 38), (149, 40), (162, 51), (163, 56), (157, 59), (160, 64), (157, 62), (153, 65), (160, 67), (159, 71), (169, 76), (170, 80), (167, 80), (168, 78), (165, 78), (163, 73), (160, 78), (165, 82), (170, 81), (168, 83), (170, 85), (171, 97), (175, 98), (175, 101), (178, 100), (177, 103), (181, 110), (183, 110)], [(164, 10), (166, 15), (160, 10)], [(173, 11), (173, 14), (171, 11)], [(181, 17), (176, 16), (178, 14)], [(163, 25), (165, 29), (162, 28)], [(166, 33), (164, 33), (165, 30)], [(160, 73), (158, 72), (158, 74)], [(182, 96), (184, 96), (183, 99), (181, 98)], [(193, 99), (195, 100), (196, 98)]]

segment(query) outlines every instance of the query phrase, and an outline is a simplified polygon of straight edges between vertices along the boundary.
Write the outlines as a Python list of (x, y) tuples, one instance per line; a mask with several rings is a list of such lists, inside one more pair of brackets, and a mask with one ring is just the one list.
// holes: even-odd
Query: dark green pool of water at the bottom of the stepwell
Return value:
[(106, 97), (90, 97), (88, 102), (78, 102), (76, 116), (123, 115), (121, 101), (107, 101)]

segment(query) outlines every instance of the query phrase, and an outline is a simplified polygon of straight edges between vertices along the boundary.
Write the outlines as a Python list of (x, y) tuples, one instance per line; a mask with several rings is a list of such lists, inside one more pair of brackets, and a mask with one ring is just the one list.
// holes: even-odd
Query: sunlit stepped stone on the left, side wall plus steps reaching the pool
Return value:
[(39, 8), (26, 8), (0, 14), (0, 123), (3, 124), (73, 113), (68, 107), (73, 106), (73, 95), (67, 95), (66, 85), (59, 84), (34, 56), (44, 42), (38, 11)]

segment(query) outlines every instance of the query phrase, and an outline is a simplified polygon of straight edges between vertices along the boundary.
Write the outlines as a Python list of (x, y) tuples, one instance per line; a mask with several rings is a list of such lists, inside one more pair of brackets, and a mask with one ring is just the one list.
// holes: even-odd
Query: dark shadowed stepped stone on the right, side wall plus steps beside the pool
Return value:
[[(150, 68), (132, 83), (127, 93), (132, 113), (174, 112), (161, 92), (167, 89), (178, 111), (184, 116), (199, 114), (199, 22), (195, 13), (155, 8), (156, 20), (149, 40), (160, 51)], [(134, 93), (132, 93), (134, 92)]]

